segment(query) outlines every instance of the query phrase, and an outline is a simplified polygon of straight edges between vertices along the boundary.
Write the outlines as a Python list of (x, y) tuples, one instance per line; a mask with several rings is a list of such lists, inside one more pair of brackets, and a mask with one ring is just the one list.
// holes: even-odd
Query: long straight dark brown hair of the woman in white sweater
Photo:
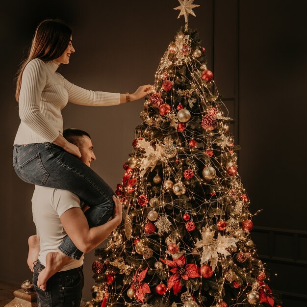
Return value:
[(35, 58), (51, 61), (60, 57), (69, 44), (71, 34), (71, 28), (60, 20), (47, 19), (37, 26), (28, 57), (22, 61), (17, 72), (15, 94), (17, 101), (19, 101), (21, 79), (26, 64)]

